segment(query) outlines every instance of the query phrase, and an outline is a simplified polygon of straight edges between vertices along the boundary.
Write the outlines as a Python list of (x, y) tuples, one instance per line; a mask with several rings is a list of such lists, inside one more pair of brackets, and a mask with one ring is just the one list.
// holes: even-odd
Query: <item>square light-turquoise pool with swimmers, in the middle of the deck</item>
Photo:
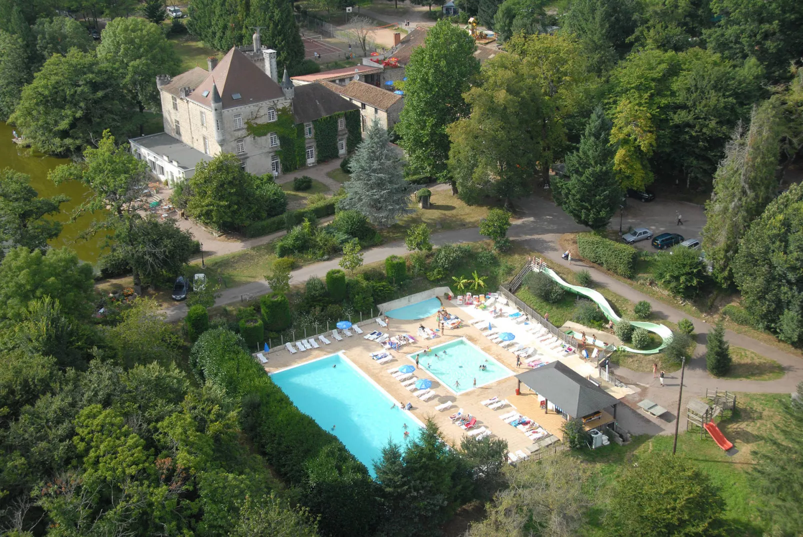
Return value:
[[(454, 393), (474, 389), (474, 379), (477, 380), (479, 387), (513, 374), (510, 369), (465, 339), (432, 347), (430, 351), (426, 355), (416, 352), (407, 357), (415, 361), (415, 356), (418, 355), (418, 365)], [(444, 351), (446, 351), (445, 356)], [(480, 365), (486, 367), (484, 371), (479, 368)], [(455, 385), (455, 382), (459, 385)]]

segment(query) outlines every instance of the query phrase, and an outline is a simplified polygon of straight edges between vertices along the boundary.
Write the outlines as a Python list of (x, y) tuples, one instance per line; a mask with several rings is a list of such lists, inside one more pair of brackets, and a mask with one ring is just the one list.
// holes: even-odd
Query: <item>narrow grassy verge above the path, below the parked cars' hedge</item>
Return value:
[[(561, 250), (569, 249), (572, 251), (572, 258), (582, 259), (577, 251), (576, 233), (567, 233), (561, 235), (559, 244)], [(705, 320), (707, 323), (715, 322), (717, 319), (719, 319), (720, 311), (717, 304), (724, 305), (731, 302), (738, 303), (740, 299), (739, 295), (728, 295), (725, 294), (724, 291), (719, 290), (712, 290), (709, 294), (703, 294), (695, 300), (675, 299), (674, 297), (667, 295), (666, 291), (662, 291), (662, 289), (655, 286), (652, 282), (651, 276), (654, 270), (654, 256), (655, 254), (649, 251), (641, 252), (639, 254), (638, 261), (636, 262), (636, 275), (634, 276), (634, 279), (623, 278), (622, 276), (613, 274), (613, 272), (606, 271), (601, 266), (593, 265), (593, 263), (588, 261), (586, 262), (588, 262), (590, 265), (593, 265), (595, 270), (601, 271), (613, 279), (618, 279), (622, 283), (626, 283), (630, 287), (633, 287), (635, 290), (649, 296), (650, 298), (655, 299), (660, 303), (664, 303), (667, 306), (674, 307), (679, 311), (683, 311), (683, 313), (689, 317)], [(736, 306), (736, 308), (740, 309), (738, 306)], [(671, 323), (667, 323), (665, 320), (662, 320), (661, 323), (666, 324), (666, 326), (671, 326)], [(778, 340), (777, 337), (772, 335), (770, 332), (758, 330), (755, 327), (749, 326), (748, 324), (736, 323), (727, 316), (724, 317), (724, 325), (732, 332), (751, 337), (756, 341), (768, 344), (783, 352), (788, 352), (789, 354), (803, 357), (803, 351), (801, 351), (801, 349), (794, 348), (789, 344), (785, 344), (783, 341)]]

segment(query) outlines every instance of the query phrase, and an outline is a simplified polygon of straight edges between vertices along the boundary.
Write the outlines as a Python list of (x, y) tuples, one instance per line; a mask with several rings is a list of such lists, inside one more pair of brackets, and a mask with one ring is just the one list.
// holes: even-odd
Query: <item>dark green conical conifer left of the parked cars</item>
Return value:
[(613, 173), (613, 154), (609, 145), (610, 121), (598, 106), (585, 126), (585, 134), (574, 153), (566, 155), (569, 181), (552, 181), (555, 200), (574, 222), (592, 230), (602, 230), (622, 202), (622, 187)]

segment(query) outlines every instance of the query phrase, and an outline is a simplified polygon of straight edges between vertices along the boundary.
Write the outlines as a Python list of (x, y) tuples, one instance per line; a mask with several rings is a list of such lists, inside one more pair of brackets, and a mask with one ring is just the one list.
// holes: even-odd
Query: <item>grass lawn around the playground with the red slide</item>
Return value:
[[(717, 423), (725, 437), (732, 441), (739, 453), (728, 457), (723, 450), (705, 435), (700, 438), (698, 431), (684, 433), (678, 437), (678, 453), (691, 459), (702, 468), (711, 481), (719, 488), (725, 500), (725, 516), (732, 523), (731, 535), (762, 535), (758, 525), (758, 507), (761, 498), (756, 494), (750, 470), (753, 465), (752, 452), (764, 445), (768, 433), (774, 425), (784, 426), (781, 401), (788, 399), (785, 394), (738, 393), (736, 412), (732, 417), (720, 419)], [(594, 498), (604, 502), (609, 498), (613, 483), (622, 475), (626, 465), (633, 464), (638, 457), (650, 452), (669, 452), (672, 450), (672, 437), (634, 437), (629, 445), (611, 444), (593, 451), (573, 453), (594, 466), (596, 485), (600, 490)], [(609, 535), (603, 531), (601, 514), (604, 505), (597, 506), (590, 513), (587, 526), (581, 535)]]

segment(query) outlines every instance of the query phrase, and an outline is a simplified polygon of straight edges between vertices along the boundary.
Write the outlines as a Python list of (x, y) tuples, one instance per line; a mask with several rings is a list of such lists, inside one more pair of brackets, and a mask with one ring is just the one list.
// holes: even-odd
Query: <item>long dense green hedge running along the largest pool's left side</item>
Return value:
[(368, 470), (334, 435), (301, 413), (225, 328), (209, 330), (190, 352), (202, 380), (239, 399), (239, 422), (259, 453), (320, 515), (321, 535), (373, 535), (378, 490)]

